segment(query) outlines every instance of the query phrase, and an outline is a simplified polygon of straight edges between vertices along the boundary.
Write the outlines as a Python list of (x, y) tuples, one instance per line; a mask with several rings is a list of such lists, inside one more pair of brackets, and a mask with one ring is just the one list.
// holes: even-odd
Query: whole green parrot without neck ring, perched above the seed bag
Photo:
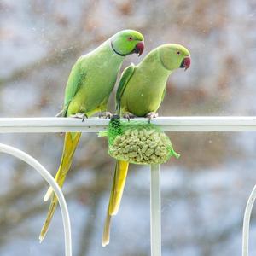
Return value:
[[(179, 68), (189, 68), (189, 50), (180, 44), (163, 44), (146, 55), (137, 66), (126, 67), (119, 81), (116, 108), (124, 117), (157, 117), (166, 93), (166, 81)], [(109, 243), (111, 217), (119, 211), (129, 163), (118, 160), (114, 170), (108, 212), (105, 220), (102, 246)]]

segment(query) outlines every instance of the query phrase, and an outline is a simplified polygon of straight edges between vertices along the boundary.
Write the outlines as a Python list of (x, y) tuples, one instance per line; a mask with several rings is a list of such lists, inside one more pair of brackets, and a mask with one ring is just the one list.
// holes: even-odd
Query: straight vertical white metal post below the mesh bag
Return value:
[(150, 183), (151, 256), (161, 255), (160, 165), (151, 165)]

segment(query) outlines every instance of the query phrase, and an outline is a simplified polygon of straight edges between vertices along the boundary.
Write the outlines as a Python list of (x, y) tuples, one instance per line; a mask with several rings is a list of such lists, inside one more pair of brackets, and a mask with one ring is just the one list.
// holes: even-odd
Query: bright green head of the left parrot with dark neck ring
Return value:
[(135, 30), (123, 30), (113, 35), (111, 46), (113, 51), (121, 56), (137, 53), (139, 56), (143, 54), (144, 38), (140, 32)]

